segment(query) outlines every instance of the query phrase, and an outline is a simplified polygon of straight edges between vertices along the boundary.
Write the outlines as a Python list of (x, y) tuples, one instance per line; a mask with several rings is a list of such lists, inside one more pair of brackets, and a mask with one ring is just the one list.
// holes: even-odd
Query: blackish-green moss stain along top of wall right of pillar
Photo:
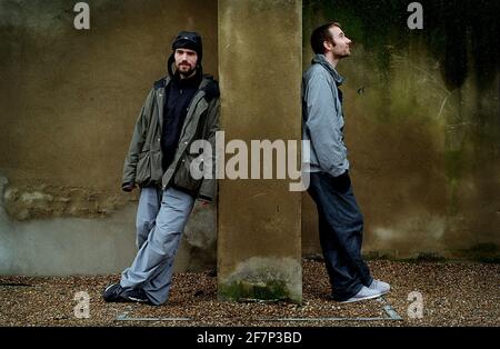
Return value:
[[(342, 23), (354, 43), (362, 43), (390, 79), (391, 53), (424, 42), (441, 67), (449, 90), (460, 88), (470, 70), (479, 77), (478, 88), (491, 87), (499, 68), (498, 1), (420, 0), (423, 30), (410, 30), (407, 0), (304, 0), (303, 37), (328, 21)], [(310, 26), (308, 28), (307, 26)], [(468, 52), (470, 51), (470, 54)], [(472, 56), (473, 61), (469, 61)]]

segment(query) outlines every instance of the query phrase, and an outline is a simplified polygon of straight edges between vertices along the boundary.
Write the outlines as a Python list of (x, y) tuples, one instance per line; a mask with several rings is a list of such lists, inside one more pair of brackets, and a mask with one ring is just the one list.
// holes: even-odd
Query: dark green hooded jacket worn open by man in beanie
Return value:
[[(161, 186), (163, 190), (174, 186), (193, 197), (211, 201), (217, 192), (214, 151), (216, 132), (219, 130), (219, 84), (211, 76), (203, 74), (200, 87), (189, 104), (173, 161), (163, 173), (161, 130), (166, 88), (169, 82), (170, 77), (160, 79), (146, 98), (124, 160), (122, 186), (128, 183), (136, 183), (139, 187)], [(209, 158), (203, 153), (203, 160), (212, 161), (211, 179), (204, 177), (194, 179), (191, 176), (191, 163), (200, 154), (190, 153), (194, 140), (207, 140), (212, 147), (213, 153)]]

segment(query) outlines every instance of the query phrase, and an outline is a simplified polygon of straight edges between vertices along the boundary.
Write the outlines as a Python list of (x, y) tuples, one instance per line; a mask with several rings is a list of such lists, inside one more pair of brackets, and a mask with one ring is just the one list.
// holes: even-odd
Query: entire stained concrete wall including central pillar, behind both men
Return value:
[[(123, 157), (179, 30), (203, 36), (204, 71), (223, 58), (228, 139), (300, 139), (310, 31), (333, 19), (356, 41), (339, 71), (364, 251), (499, 260), (497, 2), (420, 1), (424, 29), (413, 32), (403, 0), (304, 0), (303, 26), (300, 1), (93, 0), (89, 31), (73, 28), (76, 2), (0, 1), (0, 273), (130, 263), (138, 196), (119, 189)], [(272, 266), (297, 285), (300, 217), (302, 252), (319, 252), (308, 195), (300, 209), (288, 181), (220, 187), (221, 275)], [(194, 208), (177, 270), (214, 267), (216, 215)]]

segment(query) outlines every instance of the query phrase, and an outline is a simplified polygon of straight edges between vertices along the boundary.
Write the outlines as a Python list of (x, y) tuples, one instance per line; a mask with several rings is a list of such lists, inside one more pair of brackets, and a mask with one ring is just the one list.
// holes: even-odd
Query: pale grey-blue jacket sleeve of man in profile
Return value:
[(304, 83), (307, 103), (307, 131), (320, 168), (333, 177), (342, 174), (347, 149), (342, 141), (341, 111), (337, 109), (337, 90), (330, 87), (327, 77), (313, 72)]

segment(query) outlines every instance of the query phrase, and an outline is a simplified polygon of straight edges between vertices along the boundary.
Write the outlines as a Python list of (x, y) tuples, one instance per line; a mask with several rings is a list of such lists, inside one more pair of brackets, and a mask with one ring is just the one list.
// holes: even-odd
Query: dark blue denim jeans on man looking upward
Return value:
[(312, 172), (308, 192), (318, 209), (320, 243), (332, 298), (347, 300), (373, 280), (361, 257), (363, 217), (349, 174)]

